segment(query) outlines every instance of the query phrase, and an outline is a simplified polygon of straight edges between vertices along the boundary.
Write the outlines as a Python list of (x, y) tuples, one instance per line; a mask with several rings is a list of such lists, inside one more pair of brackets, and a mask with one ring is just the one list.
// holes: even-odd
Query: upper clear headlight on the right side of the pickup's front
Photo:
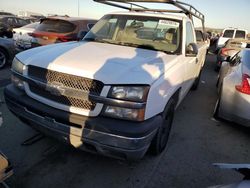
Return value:
[(135, 102), (145, 102), (149, 86), (113, 86), (109, 97)]

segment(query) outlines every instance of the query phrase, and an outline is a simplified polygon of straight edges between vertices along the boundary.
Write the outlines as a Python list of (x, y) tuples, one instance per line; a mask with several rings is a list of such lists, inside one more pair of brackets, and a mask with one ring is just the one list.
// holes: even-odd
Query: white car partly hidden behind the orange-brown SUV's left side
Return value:
[(37, 28), (39, 22), (31, 23), (20, 28), (13, 29), (13, 39), (15, 44), (20, 49), (31, 48), (31, 41), (33, 39), (32, 32)]

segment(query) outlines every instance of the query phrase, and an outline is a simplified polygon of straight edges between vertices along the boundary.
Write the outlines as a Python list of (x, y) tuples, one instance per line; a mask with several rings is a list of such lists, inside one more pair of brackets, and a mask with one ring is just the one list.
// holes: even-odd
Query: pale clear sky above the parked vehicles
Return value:
[[(44, 15), (78, 16), (78, 1), (81, 17), (100, 18), (106, 13), (119, 10), (93, 0), (0, 0), (0, 10), (15, 14), (19, 11), (32, 11)], [(250, 0), (182, 1), (192, 4), (205, 14), (207, 27), (238, 27), (250, 32)], [(162, 5), (159, 8), (162, 8)]]

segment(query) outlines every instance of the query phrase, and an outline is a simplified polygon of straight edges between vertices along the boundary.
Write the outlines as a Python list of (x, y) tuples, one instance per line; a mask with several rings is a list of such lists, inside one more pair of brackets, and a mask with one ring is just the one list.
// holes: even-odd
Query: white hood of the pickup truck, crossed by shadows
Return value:
[[(100, 80), (104, 84), (151, 84), (176, 55), (97, 42), (69, 42), (17, 55), (25, 65)], [(165, 59), (163, 61), (163, 59)]]

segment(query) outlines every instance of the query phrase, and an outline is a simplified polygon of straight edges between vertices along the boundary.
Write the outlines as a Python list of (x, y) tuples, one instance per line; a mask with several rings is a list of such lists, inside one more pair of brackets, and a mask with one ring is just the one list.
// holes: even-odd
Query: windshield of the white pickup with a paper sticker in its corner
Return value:
[(84, 40), (179, 53), (181, 23), (165, 18), (107, 15), (85, 36)]

